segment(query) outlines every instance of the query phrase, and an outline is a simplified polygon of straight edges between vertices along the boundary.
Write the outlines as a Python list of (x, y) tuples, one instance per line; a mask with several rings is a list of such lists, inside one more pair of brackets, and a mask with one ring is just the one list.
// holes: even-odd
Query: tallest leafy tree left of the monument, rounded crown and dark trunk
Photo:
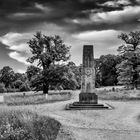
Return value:
[(42, 67), (43, 93), (46, 94), (50, 84), (48, 80), (50, 66), (56, 62), (67, 61), (70, 57), (70, 46), (67, 46), (58, 35), (46, 36), (41, 32), (37, 32), (34, 38), (29, 40), (28, 45), (32, 57), (27, 61), (30, 63), (36, 61), (37, 65)]

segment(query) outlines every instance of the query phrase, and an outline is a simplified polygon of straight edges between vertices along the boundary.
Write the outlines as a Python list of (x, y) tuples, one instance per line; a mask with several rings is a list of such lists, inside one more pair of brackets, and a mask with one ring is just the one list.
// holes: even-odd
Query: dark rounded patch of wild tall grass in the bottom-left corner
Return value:
[(29, 111), (0, 114), (0, 140), (55, 140), (60, 123)]

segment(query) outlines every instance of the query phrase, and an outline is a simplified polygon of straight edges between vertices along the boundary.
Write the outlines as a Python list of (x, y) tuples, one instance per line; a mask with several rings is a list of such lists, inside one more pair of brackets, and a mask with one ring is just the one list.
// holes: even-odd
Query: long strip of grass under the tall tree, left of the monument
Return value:
[(71, 98), (71, 92), (63, 91), (63, 92), (50, 92), (48, 97), (39, 93), (15, 93), (10, 94), (7, 93), (4, 97), (5, 103), (7, 105), (29, 105), (29, 104), (43, 104), (43, 103), (50, 103), (56, 101), (65, 101)]

